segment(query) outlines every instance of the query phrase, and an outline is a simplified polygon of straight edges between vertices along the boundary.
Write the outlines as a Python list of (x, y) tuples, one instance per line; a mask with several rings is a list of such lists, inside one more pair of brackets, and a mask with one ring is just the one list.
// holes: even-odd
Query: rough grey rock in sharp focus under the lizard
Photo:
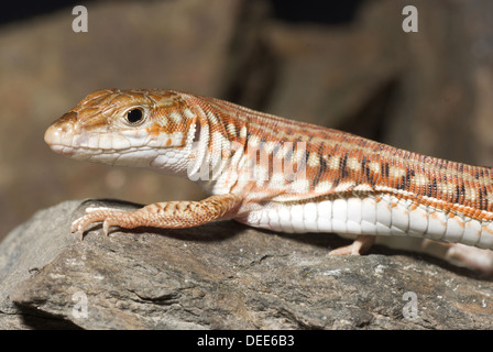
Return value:
[(328, 257), (346, 242), (233, 221), (80, 241), (69, 224), (95, 204), (135, 207), (63, 202), (0, 244), (1, 329), (493, 328), (493, 283), (426, 256)]

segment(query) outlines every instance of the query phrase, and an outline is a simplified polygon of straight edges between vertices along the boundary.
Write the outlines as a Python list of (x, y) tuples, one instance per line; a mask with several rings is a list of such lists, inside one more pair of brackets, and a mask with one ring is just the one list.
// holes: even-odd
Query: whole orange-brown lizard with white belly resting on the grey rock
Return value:
[(438, 256), (493, 272), (491, 167), (166, 89), (97, 90), (51, 124), (44, 140), (76, 160), (187, 177), (208, 195), (134, 211), (89, 207), (70, 228), (83, 238), (96, 222), (108, 235), (110, 227), (234, 219), (353, 239), (331, 255), (362, 254), (375, 238), (419, 239), (421, 249), (442, 243)]

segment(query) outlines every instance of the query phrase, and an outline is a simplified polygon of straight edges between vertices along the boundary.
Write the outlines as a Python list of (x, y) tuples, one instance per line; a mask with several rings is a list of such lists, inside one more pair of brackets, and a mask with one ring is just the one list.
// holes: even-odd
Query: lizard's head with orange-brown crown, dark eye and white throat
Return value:
[(63, 155), (91, 162), (166, 168), (186, 163), (198, 128), (172, 90), (98, 90), (53, 122), (44, 140)]

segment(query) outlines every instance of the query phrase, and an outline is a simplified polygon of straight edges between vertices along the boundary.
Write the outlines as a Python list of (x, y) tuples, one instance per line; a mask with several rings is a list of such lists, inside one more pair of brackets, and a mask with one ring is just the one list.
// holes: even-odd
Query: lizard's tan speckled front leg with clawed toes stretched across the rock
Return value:
[(162, 229), (191, 228), (213, 220), (232, 218), (243, 198), (227, 194), (211, 196), (199, 201), (166, 201), (145, 206), (134, 211), (113, 208), (87, 208), (86, 215), (72, 223), (70, 231), (80, 237), (88, 226), (102, 221), (102, 230), (108, 235), (112, 226), (124, 229), (153, 227)]

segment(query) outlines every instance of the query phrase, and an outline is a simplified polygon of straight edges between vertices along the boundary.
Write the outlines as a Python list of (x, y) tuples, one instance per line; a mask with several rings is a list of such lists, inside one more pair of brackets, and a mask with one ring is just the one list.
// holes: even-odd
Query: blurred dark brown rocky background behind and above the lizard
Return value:
[[(75, 33), (72, 9), (88, 10)], [(405, 33), (403, 8), (418, 10)], [(493, 166), (493, 1), (40, 1), (0, 14), (0, 240), (68, 199), (200, 199), (72, 161), (47, 125), (100, 88), (171, 88)]]

